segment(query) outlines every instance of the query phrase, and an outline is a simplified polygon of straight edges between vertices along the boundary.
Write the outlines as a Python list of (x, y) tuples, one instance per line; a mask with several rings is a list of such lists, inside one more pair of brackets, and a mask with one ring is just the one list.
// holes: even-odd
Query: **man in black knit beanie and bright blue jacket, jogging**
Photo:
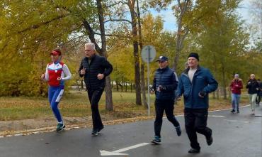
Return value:
[(181, 74), (177, 92), (177, 99), (182, 94), (184, 99), (185, 127), (191, 146), (188, 153), (200, 153), (197, 132), (205, 135), (208, 146), (213, 142), (212, 130), (207, 127), (208, 93), (217, 90), (217, 81), (198, 62), (198, 53), (188, 55), (188, 68)]

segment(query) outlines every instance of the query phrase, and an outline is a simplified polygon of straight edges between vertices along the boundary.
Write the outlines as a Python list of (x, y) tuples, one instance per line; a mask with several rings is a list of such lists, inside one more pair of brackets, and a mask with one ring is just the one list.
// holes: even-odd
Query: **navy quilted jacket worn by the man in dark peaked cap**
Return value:
[[(157, 91), (157, 87), (161, 85), (163, 90)], [(156, 99), (175, 99), (175, 90), (178, 86), (175, 72), (171, 68), (157, 69), (154, 74), (152, 89), (155, 90)]]

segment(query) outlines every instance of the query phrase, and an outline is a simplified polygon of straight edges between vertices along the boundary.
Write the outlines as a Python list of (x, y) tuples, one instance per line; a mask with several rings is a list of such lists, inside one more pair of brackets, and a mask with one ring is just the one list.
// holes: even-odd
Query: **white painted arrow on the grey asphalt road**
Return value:
[(102, 151), (100, 151), (100, 154), (101, 154), (101, 156), (123, 156), (123, 155), (127, 156), (128, 155), (127, 153), (121, 153), (121, 152), (128, 151), (130, 149), (138, 148), (138, 147), (141, 147), (141, 146), (146, 146), (148, 144), (149, 143), (136, 144), (134, 146), (129, 146), (127, 148), (118, 149), (116, 151), (105, 151), (105, 150), (102, 150)]

